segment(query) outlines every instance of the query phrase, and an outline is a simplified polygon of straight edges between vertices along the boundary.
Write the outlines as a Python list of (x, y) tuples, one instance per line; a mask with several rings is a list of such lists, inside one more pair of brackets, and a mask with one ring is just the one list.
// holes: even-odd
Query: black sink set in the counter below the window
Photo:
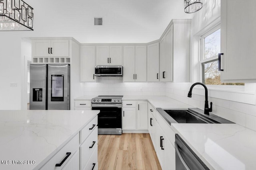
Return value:
[(204, 114), (204, 111), (198, 108), (188, 109), (162, 109), (156, 108), (157, 111), (171, 123), (234, 123), (212, 113)]

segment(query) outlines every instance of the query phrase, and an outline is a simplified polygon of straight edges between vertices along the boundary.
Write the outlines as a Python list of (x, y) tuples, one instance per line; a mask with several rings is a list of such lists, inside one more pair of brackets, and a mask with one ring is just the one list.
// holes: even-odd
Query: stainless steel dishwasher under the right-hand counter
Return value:
[(176, 170), (209, 170), (178, 134), (175, 135), (175, 152)]

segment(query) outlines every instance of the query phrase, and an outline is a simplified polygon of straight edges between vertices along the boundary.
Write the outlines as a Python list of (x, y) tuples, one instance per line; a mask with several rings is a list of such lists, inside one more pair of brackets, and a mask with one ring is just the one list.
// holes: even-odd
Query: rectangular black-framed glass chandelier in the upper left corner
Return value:
[(22, 0), (0, 0), (0, 31), (33, 31), (33, 8)]

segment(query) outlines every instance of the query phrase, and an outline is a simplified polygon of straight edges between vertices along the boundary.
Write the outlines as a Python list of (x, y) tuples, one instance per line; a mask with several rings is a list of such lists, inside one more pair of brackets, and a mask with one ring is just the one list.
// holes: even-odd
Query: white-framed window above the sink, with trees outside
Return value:
[(201, 37), (202, 82), (208, 85), (244, 85), (244, 83), (222, 83), (218, 71), (218, 53), (220, 53), (220, 26)]

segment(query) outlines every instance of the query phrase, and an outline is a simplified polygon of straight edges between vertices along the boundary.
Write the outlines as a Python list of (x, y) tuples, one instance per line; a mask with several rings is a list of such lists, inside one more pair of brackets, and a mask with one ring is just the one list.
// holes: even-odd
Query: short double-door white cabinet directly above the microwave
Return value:
[(96, 65), (122, 65), (122, 46), (97, 46)]

